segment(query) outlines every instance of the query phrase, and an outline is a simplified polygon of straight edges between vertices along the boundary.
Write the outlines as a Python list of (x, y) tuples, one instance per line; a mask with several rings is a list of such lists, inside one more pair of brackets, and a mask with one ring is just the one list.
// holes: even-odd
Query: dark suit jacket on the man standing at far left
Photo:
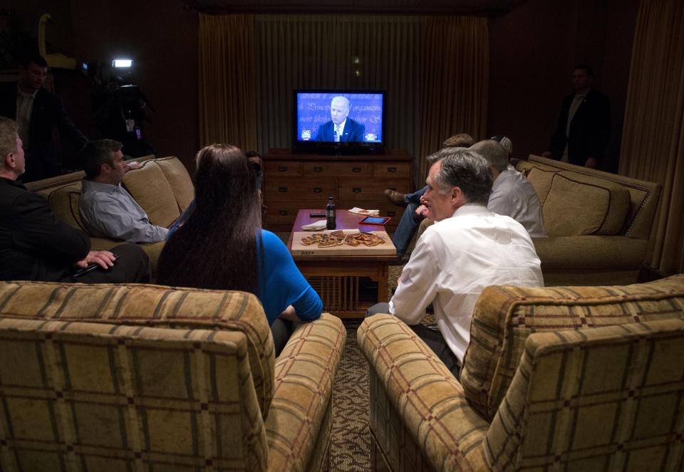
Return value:
[[(2, 84), (0, 115), (16, 120), (16, 94), (16, 82)], [(24, 143), (26, 173), (21, 177), (23, 182), (61, 174), (62, 163), (53, 142), (55, 127), (77, 152), (88, 142), (88, 138), (69, 120), (61, 100), (41, 87), (33, 99), (28, 142)]]

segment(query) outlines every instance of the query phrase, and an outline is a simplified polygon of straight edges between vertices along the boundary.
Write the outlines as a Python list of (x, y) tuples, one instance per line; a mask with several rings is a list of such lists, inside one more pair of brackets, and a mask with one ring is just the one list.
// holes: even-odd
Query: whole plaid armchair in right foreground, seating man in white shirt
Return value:
[(681, 470), (684, 275), (487, 287), (470, 335), (459, 382), (397, 318), (363, 322), (373, 463), (394, 472)]

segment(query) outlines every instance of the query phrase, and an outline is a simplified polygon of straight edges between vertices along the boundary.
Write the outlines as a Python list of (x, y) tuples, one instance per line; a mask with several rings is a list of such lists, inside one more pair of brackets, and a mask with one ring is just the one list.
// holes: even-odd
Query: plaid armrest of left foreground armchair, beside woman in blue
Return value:
[(307, 462), (321, 457), (316, 449), (327, 447), (333, 380), (345, 340), (342, 321), (323, 313), (297, 327), (276, 359), (274, 397), (266, 417), (269, 471), (310, 470)]

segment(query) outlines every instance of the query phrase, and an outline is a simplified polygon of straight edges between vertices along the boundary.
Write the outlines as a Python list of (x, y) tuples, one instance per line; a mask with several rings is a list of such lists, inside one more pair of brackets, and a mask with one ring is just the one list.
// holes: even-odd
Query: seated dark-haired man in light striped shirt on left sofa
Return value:
[(79, 213), (88, 230), (130, 243), (164, 241), (168, 229), (150, 223), (147, 214), (121, 185), (128, 167), (121, 143), (90, 141), (81, 152), (86, 171)]

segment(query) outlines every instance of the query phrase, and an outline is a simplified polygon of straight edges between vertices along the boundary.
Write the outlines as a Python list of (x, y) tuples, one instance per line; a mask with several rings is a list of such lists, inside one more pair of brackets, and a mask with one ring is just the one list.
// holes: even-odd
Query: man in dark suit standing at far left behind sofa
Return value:
[(0, 115), (16, 120), (26, 152), (24, 182), (61, 174), (62, 163), (53, 143), (56, 127), (61, 137), (78, 152), (88, 138), (73, 125), (61, 100), (43, 88), (48, 64), (41, 56), (30, 56), (19, 64), (19, 82), (3, 84)]

